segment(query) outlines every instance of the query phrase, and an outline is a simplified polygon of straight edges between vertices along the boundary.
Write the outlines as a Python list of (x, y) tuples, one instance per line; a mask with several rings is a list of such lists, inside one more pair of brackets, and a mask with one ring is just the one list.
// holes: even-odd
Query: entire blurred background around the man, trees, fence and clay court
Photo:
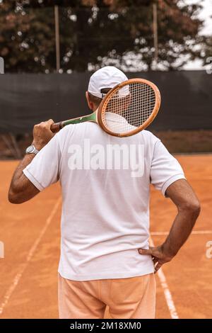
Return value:
[[(212, 0), (0, 0), (0, 318), (57, 318), (61, 199), (55, 184), (8, 203), (33, 125), (90, 113), (90, 75), (105, 65), (153, 81), (162, 96), (148, 128), (177, 154), (201, 215), (156, 275), (157, 318), (211, 318)], [(176, 211), (151, 189), (151, 238)]]

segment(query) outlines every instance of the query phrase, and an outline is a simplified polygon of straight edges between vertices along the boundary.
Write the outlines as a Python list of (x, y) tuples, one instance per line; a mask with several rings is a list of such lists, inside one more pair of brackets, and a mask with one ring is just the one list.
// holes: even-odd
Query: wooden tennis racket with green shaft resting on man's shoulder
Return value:
[(151, 81), (129, 79), (114, 86), (90, 115), (52, 124), (58, 132), (69, 124), (93, 121), (110, 135), (128, 137), (150, 125), (160, 108), (160, 91)]

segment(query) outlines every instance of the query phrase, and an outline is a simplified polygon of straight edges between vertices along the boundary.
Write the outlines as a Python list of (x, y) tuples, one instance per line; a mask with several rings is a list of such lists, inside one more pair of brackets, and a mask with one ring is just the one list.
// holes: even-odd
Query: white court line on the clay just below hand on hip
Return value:
[[(151, 238), (150, 238), (150, 245), (151, 245), (151, 247), (154, 247), (153, 239), (151, 239)], [(165, 295), (165, 300), (166, 300), (166, 303), (167, 303), (167, 307), (170, 310), (170, 316), (172, 317), (172, 319), (179, 319), (179, 316), (177, 315), (177, 310), (176, 310), (176, 307), (175, 307), (175, 303), (172, 299), (172, 294), (171, 294), (170, 289), (167, 285), (165, 274), (163, 273), (163, 269), (158, 270), (158, 278), (159, 278), (160, 284), (163, 288), (163, 293)]]

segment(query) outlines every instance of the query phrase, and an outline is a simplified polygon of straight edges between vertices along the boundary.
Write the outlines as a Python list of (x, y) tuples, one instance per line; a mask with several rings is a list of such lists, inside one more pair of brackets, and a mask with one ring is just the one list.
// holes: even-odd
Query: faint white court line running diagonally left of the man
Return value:
[(42, 239), (43, 235), (45, 235), (45, 232), (47, 231), (47, 227), (49, 227), (49, 224), (52, 222), (52, 218), (54, 217), (54, 214), (57, 212), (57, 208), (59, 207), (60, 202), (61, 202), (61, 198), (59, 198), (57, 200), (57, 202), (55, 203), (52, 213), (49, 215), (49, 218), (47, 218), (47, 220), (45, 222), (45, 226), (42, 228), (40, 235), (35, 240), (33, 247), (31, 247), (30, 252), (28, 253), (28, 256), (27, 256), (25, 262), (19, 266), (18, 273), (16, 274), (15, 278), (13, 279), (11, 286), (6, 291), (6, 294), (4, 295), (4, 299), (0, 305), (0, 315), (2, 314), (4, 307), (8, 303), (8, 300), (11, 298), (13, 291), (16, 289), (16, 286), (18, 285), (18, 282), (20, 281), (20, 278), (23, 275), (23, 272), (25, 271), (30, 260), (32, 259), (33, 254), (35, 253), (35, 250), (37, 249), (37, 245), (40, 243), (40, 240)]

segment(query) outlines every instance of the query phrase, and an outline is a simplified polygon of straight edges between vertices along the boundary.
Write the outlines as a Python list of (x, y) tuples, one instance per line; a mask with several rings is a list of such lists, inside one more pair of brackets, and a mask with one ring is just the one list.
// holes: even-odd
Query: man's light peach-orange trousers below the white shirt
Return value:
[(59, 318), (145, 319), (155, 317), (155, 276), (72, 281), (59, 275)]

